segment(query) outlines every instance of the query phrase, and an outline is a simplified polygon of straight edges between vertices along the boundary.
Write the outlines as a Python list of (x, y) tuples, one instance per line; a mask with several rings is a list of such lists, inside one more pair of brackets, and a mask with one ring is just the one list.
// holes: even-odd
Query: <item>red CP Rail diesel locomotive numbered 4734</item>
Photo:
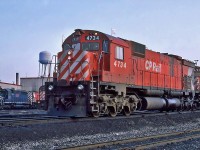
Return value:
[(200, 106), (195, 63), (138, 42), (76, 29), (63, 42), (55, 63), (54, 80), (45, 83), (52, 115), (114, 117), (135, 110)]

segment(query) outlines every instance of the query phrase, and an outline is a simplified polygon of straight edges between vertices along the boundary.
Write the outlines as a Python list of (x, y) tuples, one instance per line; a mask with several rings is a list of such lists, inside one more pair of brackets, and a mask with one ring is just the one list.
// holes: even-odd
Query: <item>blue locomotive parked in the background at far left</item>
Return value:
[(0, 89), (0, 108), (34, 108), (33, 93), (15, 89)]

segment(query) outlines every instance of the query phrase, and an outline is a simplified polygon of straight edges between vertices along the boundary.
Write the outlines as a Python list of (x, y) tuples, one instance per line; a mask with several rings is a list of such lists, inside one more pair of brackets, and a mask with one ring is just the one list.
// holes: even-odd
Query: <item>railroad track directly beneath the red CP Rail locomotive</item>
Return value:
[(164, 116), (164, 115), (176, 115), (176, 114), (186, 114), (186, 113), (195, 113), (197, 111), (187, 111), (187, 112), (135, 112), (134, 115), (129, 117), (126, 116), (117, 116), (117, 117), (99, 117), (99, 118), (71, 118), (71, 117), (56, 117), (56, 116), (42, 116), (42, 115), (27, 115), (27, 116), (7, 116), (0, 117), (0, 127), (5, 126), (18, 126), (18, 125), (31, 125), (31, 124), (42, 124), (42, 123), (68, 123), (68, 122), (84, 122), (84, 121), (101, 121), (101, 120), (115, 120), (115, 119), (131, 119), (131, 118), (140, 118), (148, 116)]

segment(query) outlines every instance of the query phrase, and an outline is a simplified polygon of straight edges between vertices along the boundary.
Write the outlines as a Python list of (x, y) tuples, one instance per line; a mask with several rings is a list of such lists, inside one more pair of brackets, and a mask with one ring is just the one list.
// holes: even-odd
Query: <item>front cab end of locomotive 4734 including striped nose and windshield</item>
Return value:
[[(98, 69), (110, 70), (109, 39), (100, 32), (77, 29), (58, 53), (58, 80), (90, 81)], [(103, 63), (106, 60), (106, 64)]]

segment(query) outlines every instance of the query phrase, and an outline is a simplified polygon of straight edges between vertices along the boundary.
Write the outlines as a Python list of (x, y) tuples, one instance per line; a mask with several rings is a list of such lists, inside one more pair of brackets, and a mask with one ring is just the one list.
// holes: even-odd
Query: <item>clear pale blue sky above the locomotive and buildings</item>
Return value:
[(200, 59), (199, 0), (0, 0), (0, 80), (37, 77), (39, 52), (57, 54), (76, 28)]

